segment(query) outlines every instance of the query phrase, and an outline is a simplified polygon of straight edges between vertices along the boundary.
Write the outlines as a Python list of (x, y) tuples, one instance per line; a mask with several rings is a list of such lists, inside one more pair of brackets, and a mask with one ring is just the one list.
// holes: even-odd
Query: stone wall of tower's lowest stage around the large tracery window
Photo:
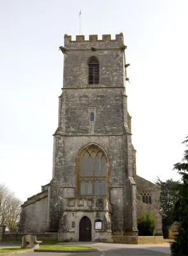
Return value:
[[(92, 141), (92, 143), (90, 143)], [(80, 150), (85, 147), (98, 145), (105, 148), (108, 156), (108, 198), (113, 205), (114, 227), (132, 228), (133, 227), (133, 198), (136, 200), (136, 193), (132, 193), (132, 181), (129, 180), (128, 170), (131, 167), (131, 159), (127, 163), (126, 156), (126, 135), (122, 136), (61, 136), (55, 135), (55, 167), (54, 178), (51, 182), (50, 195), (50, 220), (51, 228), (58, 230), (59, 220), (61, 219), (66, 198), (73, 198), (77, 188), (77, 157)], [(130, 142), (129, 142), (130, 143)], [(129, 152), (132, 153), (132, 145)], [(131, 172), (129, 170), (129, 172)], [(68, 173), (68, 175), (67, 175)], [(135, 186), (135, 185), (134, 185)], [(121, 194), (120, 194), (121, 193)], [(135, 194), (135, 195), (134, 195)], [(126, 204), (126, 207), (124, 205)], [(136, 202), (134, 202), (136, 206)], [(85, 209), (87, 211), (87, 209)], [(134, 215), (136, 213), (134, 212)], [(134, 216), (134, 219), (136, 217)], [(135, 220), (134, 220), (135, 225)], [(50, 228), (50, 230), (51, 230)]]

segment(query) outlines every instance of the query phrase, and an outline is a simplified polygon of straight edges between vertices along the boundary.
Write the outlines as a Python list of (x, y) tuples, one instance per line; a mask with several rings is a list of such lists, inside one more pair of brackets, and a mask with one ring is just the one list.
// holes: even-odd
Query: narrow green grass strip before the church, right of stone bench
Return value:
[(96, 248), (84, 246), (41, 245), (40, 248), (37, 250), (91, 251), (96, 250)]

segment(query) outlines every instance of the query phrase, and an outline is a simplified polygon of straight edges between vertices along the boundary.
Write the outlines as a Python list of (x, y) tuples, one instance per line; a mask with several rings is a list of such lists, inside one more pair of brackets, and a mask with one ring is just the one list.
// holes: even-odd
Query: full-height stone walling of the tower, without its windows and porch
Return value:
[[(58, 230), (66, 197), (78, 197), (78, 157), (96, 145), (108, 159), (108, 200), (113, 205), (113, 227), (136, 230), (136, 183), (133, 180), (131, 121), (125, 94), (123, 35), (111, 40), (65, 35), (64, 84), (59, 99), (59, 127), (54, 134), (54, 167), (50, 192), (50, 230)], [(96, 51), (92, 51), (94, 47)], [(99, 61), (99, 84), (88, 82), (88, 61)], [(89, 108), (95, 109), (90, 122)], [(129, 118), (129, 122), (128, 122)], [(84, 209), (89, 211), (88, 207)], [(97, 211), (97, 209), (96, 209)], [(86, 214), (86, 213), (85, 213)]]

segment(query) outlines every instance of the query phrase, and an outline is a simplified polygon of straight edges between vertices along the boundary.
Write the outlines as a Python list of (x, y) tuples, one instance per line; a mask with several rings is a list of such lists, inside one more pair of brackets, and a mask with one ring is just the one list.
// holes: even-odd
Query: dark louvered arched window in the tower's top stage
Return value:
[(91, 57), (89, 66), (89, 84), (99, 84), (99, 61), (96, 57)]

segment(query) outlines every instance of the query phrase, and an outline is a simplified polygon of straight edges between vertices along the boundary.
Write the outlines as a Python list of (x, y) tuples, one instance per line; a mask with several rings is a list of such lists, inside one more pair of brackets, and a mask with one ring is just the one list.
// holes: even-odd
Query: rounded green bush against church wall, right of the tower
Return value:
[(155, 235), (155, 218), (148, 212), (140, 214), (138, 218), (138, 235), (139, 236), (154, 236)]

